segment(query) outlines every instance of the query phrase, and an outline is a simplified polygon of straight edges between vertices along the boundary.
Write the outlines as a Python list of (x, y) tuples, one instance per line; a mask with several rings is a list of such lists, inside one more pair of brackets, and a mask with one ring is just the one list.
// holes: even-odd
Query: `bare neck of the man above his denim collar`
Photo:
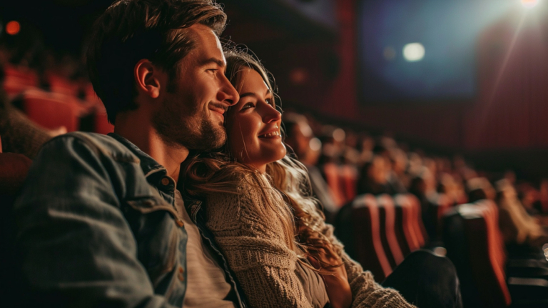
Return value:
[[(114, 132), (150, 155), (158, 164), (165, 167), (168, 176), (177, 182), (181, 163), (188, 157), (188, 149), (164, 141), (148, 121), (131, 120), (127, 121), (117, 117)], [(139, 123), (139, 125), (129, 123)]]

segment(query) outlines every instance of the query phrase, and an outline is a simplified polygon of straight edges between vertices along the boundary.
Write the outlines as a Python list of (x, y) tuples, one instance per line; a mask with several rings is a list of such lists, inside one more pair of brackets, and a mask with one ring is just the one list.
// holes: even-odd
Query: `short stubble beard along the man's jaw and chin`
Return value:
[(154, 129), (161, 139), (173, 146), (189, 150), (218, 149), (226, 141), (225, 128), (215, 124), (200, 109), (186, 111), (165, 100), (162, 108), (152, 116)]

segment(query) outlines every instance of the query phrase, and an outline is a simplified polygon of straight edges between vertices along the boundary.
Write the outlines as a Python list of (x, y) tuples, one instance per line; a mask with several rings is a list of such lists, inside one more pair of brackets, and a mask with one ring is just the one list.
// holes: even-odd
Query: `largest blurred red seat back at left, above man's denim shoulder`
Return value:
[(79, 126), (78, 110), (71, 101), (64, 101), (43, 91), (27, 91), (23, 96), (23, 109), (29, 119), (47, 129), (65, 126), (76, 131)]

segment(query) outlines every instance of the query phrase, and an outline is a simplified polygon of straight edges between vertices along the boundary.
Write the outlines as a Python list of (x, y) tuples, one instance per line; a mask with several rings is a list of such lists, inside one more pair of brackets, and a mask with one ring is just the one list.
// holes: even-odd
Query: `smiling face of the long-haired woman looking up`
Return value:
[(266, 164), (285, 156), (280, 134), (282, 116), (272, 91), (253, 69), (240, 71), (240, 101), (230, 107), (226, 131), (228, 150), (238, 162), (265, 172)]

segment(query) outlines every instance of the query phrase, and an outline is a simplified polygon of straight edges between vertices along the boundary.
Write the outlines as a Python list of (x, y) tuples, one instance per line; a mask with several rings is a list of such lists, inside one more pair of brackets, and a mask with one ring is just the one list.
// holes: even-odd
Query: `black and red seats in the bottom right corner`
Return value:
[(494, 202), (455, 207), (445, 215), (443, 234), (465, 307), (548, 307), (546, 260), (507, 259)]

